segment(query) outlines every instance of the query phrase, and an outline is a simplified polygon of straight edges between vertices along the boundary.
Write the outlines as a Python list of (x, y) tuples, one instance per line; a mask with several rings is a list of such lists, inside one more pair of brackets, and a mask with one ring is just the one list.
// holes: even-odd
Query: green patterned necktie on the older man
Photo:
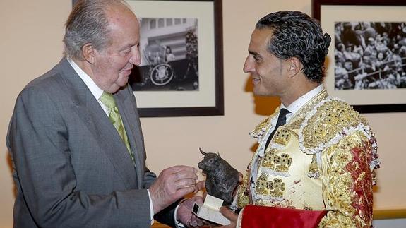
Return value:
[(109, 109), (109, 119), (116, 128), (123, 142), (126, 144), (127, 150), (129, 150), (131, 160), (133, 161), (133, 164), (135, 164), (133, 152), (131, 152), (130, 148), (129, 138), (127, 137), (126, 129), (124, 128), (124, 124), (123, 121), (121, 120), (119, 109), (117, 108), (113, 95), (108, 92), (103, 92), (99, 100), (103, 104), (105, 104), (107, 109)]

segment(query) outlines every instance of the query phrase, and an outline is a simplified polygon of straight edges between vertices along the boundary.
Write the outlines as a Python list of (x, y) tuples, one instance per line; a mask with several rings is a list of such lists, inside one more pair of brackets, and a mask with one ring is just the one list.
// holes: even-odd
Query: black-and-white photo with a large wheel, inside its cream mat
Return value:
[(133, 90), (198, 90), (198, 20), (140, 18), (140, 23), (142, 60), (133, 69)]

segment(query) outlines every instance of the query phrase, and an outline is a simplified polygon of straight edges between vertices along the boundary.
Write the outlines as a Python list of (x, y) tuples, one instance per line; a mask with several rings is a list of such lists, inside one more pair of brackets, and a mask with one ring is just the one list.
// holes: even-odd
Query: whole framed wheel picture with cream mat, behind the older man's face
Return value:
[(129, 79), (140, 116), (223, 115), (222, 0), (126, 2), (140, 21)]

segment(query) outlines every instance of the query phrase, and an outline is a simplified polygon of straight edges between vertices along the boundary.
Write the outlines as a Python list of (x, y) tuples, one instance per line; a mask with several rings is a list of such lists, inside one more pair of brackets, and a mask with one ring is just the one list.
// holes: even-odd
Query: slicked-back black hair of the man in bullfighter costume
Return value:
[(280, 59), (297, 57), (304, 65), (309, 80), (321, 83), (325, 74), (324, 61), (331, 37), (323, 35), (317, 20), (299, 11), (270, 13), (256, 23), (256, 29), (270, 29), (268, 52)]

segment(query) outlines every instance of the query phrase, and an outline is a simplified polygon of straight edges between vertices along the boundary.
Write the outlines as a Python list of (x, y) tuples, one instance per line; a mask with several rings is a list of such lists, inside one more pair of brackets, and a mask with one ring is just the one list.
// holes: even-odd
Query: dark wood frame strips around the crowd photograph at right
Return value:
[[(348, 6), (406, 6), (404, 0), (312, 0), (312, 17), (321, 20), (322, 5)], [(405, 19), (406, 20), (406, 19)], [(406, 112), (406, 104), (369, 104), (354, 105), (362, 113)]]

